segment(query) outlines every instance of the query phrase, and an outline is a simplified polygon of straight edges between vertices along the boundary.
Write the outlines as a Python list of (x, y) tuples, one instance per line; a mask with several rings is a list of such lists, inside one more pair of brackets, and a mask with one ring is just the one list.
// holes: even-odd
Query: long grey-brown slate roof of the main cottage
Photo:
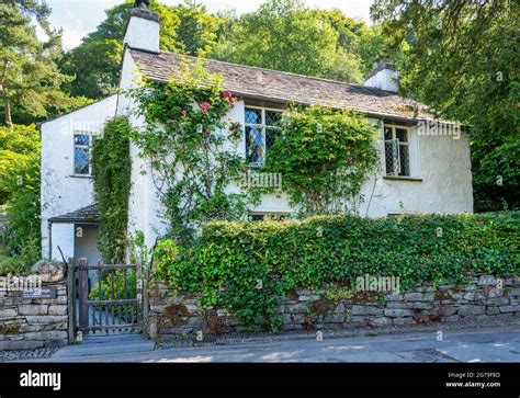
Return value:
[(376, 88), (169, 52), (156, 54), (134, 48), (129, 52), (140, 72), (152, 81), (168, 81), (184, 57), (189, 62), (201, 60), (210, 72), (222, 73), (223, 88), (244, 98), (351, 109), (369, 116), (396, 120), (433, 118), (426, 105)]

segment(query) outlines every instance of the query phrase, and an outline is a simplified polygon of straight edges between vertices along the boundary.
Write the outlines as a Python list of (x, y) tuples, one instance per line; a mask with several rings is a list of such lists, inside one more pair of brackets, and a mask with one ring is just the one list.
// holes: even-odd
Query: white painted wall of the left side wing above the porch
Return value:
[[(42, 125), (42, 255), (48, 257), (48, 226), (50, 217), (59, 216), (92, 204), (92, 181), (74, 175), (74, 134), (99, 134), (108, 118), (115, 114), (117, 95), (95, 102), (76, 112)], [(71, 225), (53, 226), (53, 258), (74, 257)]]

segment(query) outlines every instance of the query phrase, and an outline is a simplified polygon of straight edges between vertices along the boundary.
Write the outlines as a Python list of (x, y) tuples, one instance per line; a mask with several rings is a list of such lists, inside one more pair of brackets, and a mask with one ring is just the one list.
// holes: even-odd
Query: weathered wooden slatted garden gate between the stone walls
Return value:
[(87, 259), (80, 259), (76, 266), (76, 277), (78, 329), (83, 334), (143, 331), (143, 281), (139, 263), (89, 265)]

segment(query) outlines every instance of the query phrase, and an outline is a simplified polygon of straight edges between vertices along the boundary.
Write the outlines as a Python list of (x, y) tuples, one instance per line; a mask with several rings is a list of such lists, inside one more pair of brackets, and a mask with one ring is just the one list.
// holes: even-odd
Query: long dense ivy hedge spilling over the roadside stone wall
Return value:
[(225, 308), (251, 328), (263, 322), (275, 329), (280, 298), (296, 287), (336, 284), (344, 295), (365, 274), (399, 277), (402, 291), (464, 283), (473, 273), (518, 275), (519, 237), (519, 213), (215, 221), (179, 253), (161, 242), (156, 278), (200, 293), (203, 306)]

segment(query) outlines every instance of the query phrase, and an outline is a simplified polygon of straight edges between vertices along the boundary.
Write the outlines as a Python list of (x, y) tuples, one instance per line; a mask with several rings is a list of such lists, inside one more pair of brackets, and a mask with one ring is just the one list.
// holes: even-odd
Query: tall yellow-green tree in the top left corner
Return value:
[[(56, 66), (61, 37), (48, 26), (49, 12), (37, 0), (5, 0), (0, 4), (0, 101), (11, 128), (13, 115), (42, 117), (75, 104), (61, 90), (68, 77)], [(46, 42), (38, 41), (32, 18), (47, 35)]]

